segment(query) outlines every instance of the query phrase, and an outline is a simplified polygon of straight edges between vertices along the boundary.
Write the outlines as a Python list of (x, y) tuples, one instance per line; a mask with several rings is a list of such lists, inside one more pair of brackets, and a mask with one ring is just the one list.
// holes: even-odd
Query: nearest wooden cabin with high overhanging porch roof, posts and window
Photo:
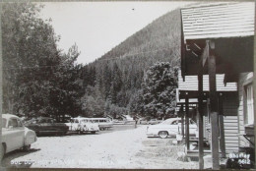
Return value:
[[(209, 75), (209, 117), (211, 121), (211, 145), (213, 169), (220, 169), (220, 141), (224, 135), (224, 99), (218, 92), (217, 76), (224, 75), (224, 85), (237, 83), (239, 145), (248, 145), (245, 127), (254, 125), (254, 101), (252, 79), (255, 4), (230, 2), (200, 4), (181, 9), (181, 76), (196, 76), (198, 90), (188, 98), (198, 99), (199, 165), (203, 168), (203, 75)], [(180, 93), (182, 96), (182, 93)], [(225, 95), (227, 98), (233, 98)], [(220, 121), (220, 124), (219, 124)], [(249, 122), (249, 123), (246, 123)], [(230, 131), (231, 132), (231, 131)], [(254, 134), (251, 135), (253, 137)], [(244, 140), (245, 139), (245, 140)], [(221, 139), (222, 140), (222, 139)], [(247, 141), (247, 142), (246, 142)], [(250, 142), (251, 143), (251, 142)], [(251, 143), (253, 144), (253, 142)], [(221, 145), (221, 150), (223, 145)]]

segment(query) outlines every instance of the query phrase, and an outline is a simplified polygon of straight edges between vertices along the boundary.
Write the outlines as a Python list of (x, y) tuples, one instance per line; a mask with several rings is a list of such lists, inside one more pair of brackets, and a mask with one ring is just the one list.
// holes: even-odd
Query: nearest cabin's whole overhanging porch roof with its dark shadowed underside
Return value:
[(181, 9), (183, 79), (198, 75), (206, 40), (215, 42), (216, 73), (227, 76), (225, 83), (237, 82), (239, 73), (252, 72), (254, 8), (254, 2), (219, 2)]

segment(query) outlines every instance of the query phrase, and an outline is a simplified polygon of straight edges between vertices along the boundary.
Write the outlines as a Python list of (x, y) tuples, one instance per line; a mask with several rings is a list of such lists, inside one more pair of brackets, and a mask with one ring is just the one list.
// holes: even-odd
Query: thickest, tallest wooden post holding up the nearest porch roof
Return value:
[(211, 131), (212, 131), (212, 157), (213, 169), (220, 169), (219, 157), (219, 126), (218, 126), (218, 98), (216, 93), (216, 56), (214, 55), (215, 44), (210, 41), (210, 55), (208, 58), (208, 73), (209, 73), (209, 87), (210, 87), (210, 117), (211, 117)]

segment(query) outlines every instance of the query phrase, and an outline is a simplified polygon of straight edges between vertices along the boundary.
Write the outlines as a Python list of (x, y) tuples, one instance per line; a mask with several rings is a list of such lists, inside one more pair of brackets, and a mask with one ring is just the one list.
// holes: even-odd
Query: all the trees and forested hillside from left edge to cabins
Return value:
[[(42, 6), (3, 3), (3, 113), (50, 116), (166, 117), (174, 114), (179, 64), (178, 10), (89, 65), (76, 44), (64, 53)], [(178, 38), (177, 38), (178, 37)]]

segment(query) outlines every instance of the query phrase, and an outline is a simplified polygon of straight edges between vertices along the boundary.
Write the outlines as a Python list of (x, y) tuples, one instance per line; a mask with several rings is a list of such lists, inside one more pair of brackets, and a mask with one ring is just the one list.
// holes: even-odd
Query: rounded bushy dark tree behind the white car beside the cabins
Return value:
[(154, 117), (173, 114), (176, 87), (176, 68), (172, 69), (169, 63), (164, 62), (152, 66), (142, 84), (145, 113)]

